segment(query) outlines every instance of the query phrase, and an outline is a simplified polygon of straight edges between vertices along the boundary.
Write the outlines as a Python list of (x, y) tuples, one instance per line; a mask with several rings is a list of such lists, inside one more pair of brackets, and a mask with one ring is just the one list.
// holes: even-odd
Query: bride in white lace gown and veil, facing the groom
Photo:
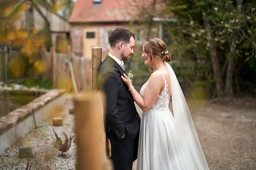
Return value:
[[(125, 74), (121, 76), (143, 110), (137, 170), (204, 170), (204, 157), (186, 100), (171, 66), (163, 40), (148, 40), (142, 58), (154, 72), (138, 93)], [(172, 97), (173, 115), (169, 110)]]

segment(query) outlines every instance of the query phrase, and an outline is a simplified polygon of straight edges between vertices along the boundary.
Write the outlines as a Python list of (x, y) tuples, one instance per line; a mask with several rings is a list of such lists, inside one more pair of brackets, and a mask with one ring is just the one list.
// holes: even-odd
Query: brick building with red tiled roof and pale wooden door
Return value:
[[(108, 31), (126, 26), (136, 34), (135, 43), (144, 43), (146, 28), (143, 19), (150, 9), (163, 8), (163, 0), (77, 0), (69, 22), (72, 51), (77, 56), (91, 57), (92, 47), (102, 47), (102, 58), (109, 52)], [(154, 12), (157, 14), (157, 12)], [(162, 19), (155, 15), (151, 31), (161, 38)]]

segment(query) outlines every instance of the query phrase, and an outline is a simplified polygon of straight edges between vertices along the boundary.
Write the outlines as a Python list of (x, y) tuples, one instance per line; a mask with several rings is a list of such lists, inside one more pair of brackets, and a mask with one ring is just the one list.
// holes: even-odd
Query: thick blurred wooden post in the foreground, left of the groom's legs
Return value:
[(101, 98), (99, 94), (83, 94), (73, 98), (78, 170), (112, 170), (102, 145)]

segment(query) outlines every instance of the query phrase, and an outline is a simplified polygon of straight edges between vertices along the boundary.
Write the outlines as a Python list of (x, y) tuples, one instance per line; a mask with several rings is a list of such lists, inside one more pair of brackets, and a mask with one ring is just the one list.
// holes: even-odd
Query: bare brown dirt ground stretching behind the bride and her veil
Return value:
[(256, 98), (219, 97), (188, 106), (210, 170), (256, 170)]

